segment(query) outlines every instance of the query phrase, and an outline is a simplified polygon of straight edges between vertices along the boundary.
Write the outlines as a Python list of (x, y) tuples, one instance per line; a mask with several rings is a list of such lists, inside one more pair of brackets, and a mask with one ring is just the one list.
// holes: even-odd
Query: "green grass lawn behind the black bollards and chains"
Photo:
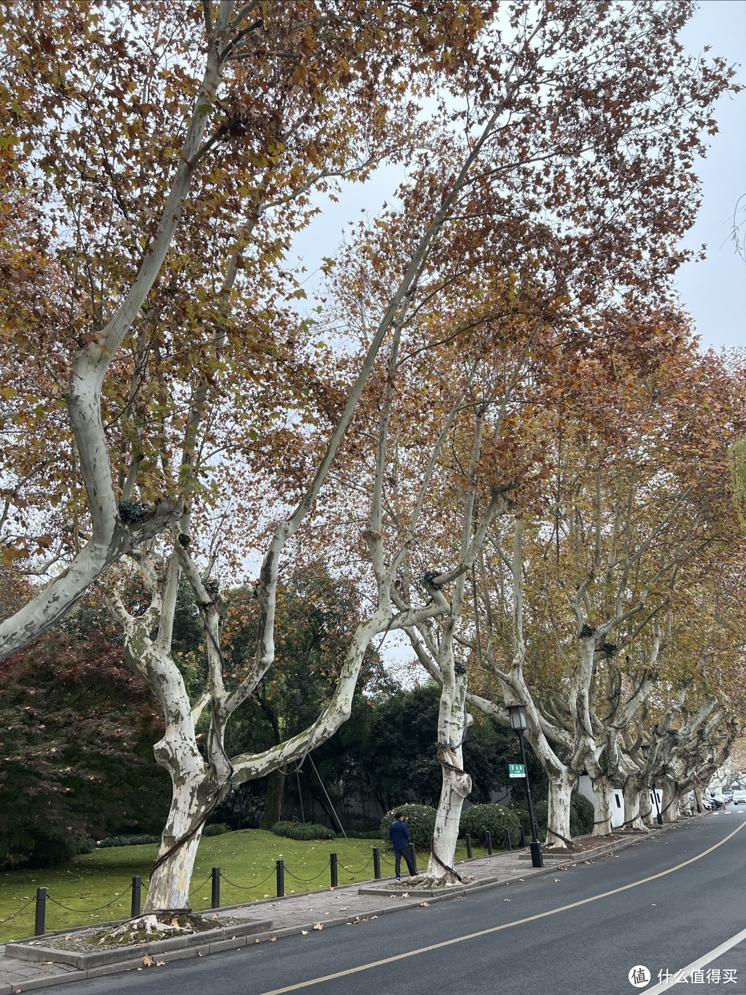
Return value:
[[(276, 862), (284, 861), (285, 895), (330, 887), (329, 854), (336, 853), (339, 885), (371, 881), (375, 840), (288, 840), (261, 829), (211, 836), (200, 843), (189, 894), (193, 908), (210, 907), (212, 868), (222, 872), (220, 901), (234, 905), (277, 895)], [(380, 846), (380, 845), (379, 845)], [(34, 898), (45, 887), (47, 931), (66, 929), (129, 915), (129, 887), (142, 878), (142, 900), (157, 847), (111, 847), (81, 854), (51, 871), (0, 872), (0, 942), (22, 939), (34, 932)], [(486, 851), (473, 847), (474, 857)], [(460, 845), (458, 861), (466, 859)], [(420, 866), (427, 854), (418, 858)], [(381, 874), (394, 873), (394, 855), (381, 847)], [(58, 904), (59, 902), (59, 904)], [(23, 906), (26, 906), (25, 908)], [(67, 906), (67, 907), (61, 907)]]

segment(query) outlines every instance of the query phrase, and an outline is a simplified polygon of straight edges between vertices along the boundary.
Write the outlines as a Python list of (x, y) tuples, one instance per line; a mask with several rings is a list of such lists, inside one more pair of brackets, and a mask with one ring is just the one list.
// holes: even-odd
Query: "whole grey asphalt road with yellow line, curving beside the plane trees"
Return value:
[[(705, 958), (687, 987), (670, 990), (746, 993), (746, 933), (713, 955), (744, 927), (746, 809), (739, 807), (515, 886), (86, 981), (77, 992), (657, 995), (659, 979)], [(648, 984), (631, 983), (637, 966), (650, 972)], [(69, 995), (65, 986), (47, 991)]]

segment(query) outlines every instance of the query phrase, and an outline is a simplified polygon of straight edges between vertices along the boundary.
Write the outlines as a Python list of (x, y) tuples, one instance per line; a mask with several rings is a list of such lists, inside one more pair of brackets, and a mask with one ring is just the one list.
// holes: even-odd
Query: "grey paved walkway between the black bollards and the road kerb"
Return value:
[[(669, 827), (664, 826), (662, 829), (655, 829), (651, 835), (665, 832), (667, 828)], [(248, 943), (273, 941), (303, 930), (328, 929), (364, 921), (373, 916), (411, 908), (423, 901), (445, 901), (477, 889), (515, 885), (528, 878), (551, 875), (560, 866), (594, 860), (646, 838), (634, 834), (593, 850), (583, 851), (569, 859), (547, 858), (544, 868), (531, 867), (527, 850), (474, 858), (458, 865), (464, 878), (463, 885), (435, 894), (408, 889), (406, 879), (397, 885), (389, 878), (322, 892), (253, 901), (247, 905), (226, 906), (216, 913), (210, 913), (216, 914), (216, 925), (222, 927), (216, 930), (212, 940), (208, 938), (212, 935), (210, 933), (174, 938), (160, 943), (143, 944), (137, 947), (136, 954), (132, 947), (126, 950), (109, 948), (100, 953), (94, 951), (82, 955), (70, 952), (66, 954), (70, 962), (60, 963), (53, 961), (52, 957), (61, 955), (53, 946), (53, 937), (61, 934), (48, 933), (46, 937), (37, 937), (33, 942), (27, 940), (0, 945), (0, 995), (17, 995), (19, 992), (33, 991), (48, 985), (132, 970), (142, 967), (143, 957), (152, 957), (154, 964), (168, 963), (183, 957), (236, 949)], [(237, 920), (246, 920), (246, 923)], [(101, 925), (102, 923), (98, 923), (96, 929), (100, 929)], [(77, 931), (80, 930), (68, 929), (64, 934), (75, 936)]]

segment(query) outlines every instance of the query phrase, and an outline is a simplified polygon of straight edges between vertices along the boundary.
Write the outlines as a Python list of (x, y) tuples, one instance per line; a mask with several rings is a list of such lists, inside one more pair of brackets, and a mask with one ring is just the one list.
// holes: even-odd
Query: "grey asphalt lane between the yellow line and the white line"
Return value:
[[(720, 863), (733, 860), (732, 853), (715, 854)], [(713, 864), (714, 856), (702, 858), (701, 870), (692, 864), (667, 878), (616, 896), (470, 937), (450, 947), (423, 950), (416, 955), (417, 963), (413, 957), (371, 966), (354, 976), (355, 990), (380, 993), (405, 985), (412, 993), (460, 988), (469, 995), (497, 990), (505, 995), (632, 992), (635, 988), (630, 983), (630, 972), (636, 966), (647, 966), (653, 980), (657, 980), (717, 946), (731, 935), (734, 923), (741, 927), (739, 909), (743, 903), (738, 876), (731, 872), (721, 875), (721, 869)], [(717, 896), (714, 902), (701, 903), (698, 899), (701, 881), (708, 880), (713, 871), (730, 882), (727, 894), (722, 896), (730, 905), (727, 909), (723, 909)], [(690, 881), (674, 880), (687, 872)], [(658, 887), (661, 882), (666, 883), (663, 888)], [(531, 886), (536, 884), (534, 881)], [(516, 906), (512, 910), (524, 909)], [(701, 982), (697, 978), (694, 983), (721, 983), (727, 977), (725, 983), (732, 986), (729, 990), (746, 990), (741, 956), (740, 947), (728, 951), (708, 965)], [(313, 990), (319, 995), (338, 995), (350, 980), (330, 979)]]

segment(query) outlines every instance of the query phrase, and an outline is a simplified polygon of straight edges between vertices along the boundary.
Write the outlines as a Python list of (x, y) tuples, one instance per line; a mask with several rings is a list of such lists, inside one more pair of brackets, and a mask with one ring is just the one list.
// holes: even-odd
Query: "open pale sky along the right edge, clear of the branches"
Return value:
[[(711, 55), (746, 64), (746, 0), (702, 0), (682, 41), (692, 54), (711, 45)], [(743, 68), (738, 80), (746, 85)], [(690, 247), (706, 243), (707, 259), (682, 267), (676, 285), (703, 346), (746, 346), (746, 262), (730, 239), (736, 203), (746, 194), (746, 91), (720, 100), (716, 116), (720, 132), (698, 168), (702, 207), (685, 240)], [(746, 224), (743, 204), (740, 217)]]

